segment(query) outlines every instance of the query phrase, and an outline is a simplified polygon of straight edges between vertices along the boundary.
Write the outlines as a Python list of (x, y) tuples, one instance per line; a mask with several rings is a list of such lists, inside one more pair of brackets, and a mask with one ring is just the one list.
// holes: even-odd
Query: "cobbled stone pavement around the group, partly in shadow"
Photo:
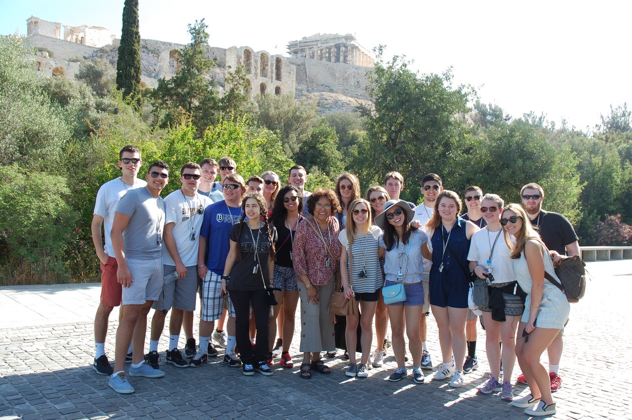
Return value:
[[(588, 270), (595, 279), (588, 284), (586, 297), (572, 305), (560, 372), (564, 387), (554, 394), (554, 417), (630, 419), (632, 383), (624, 366), (632, 358), (632, 263), (599, 261), (588, 263)], [(195, 369), (165, 364), (164, 378), (131, 378), (136, 392), (119, 395), (107, 386), (107, 376), (97, 375), (91, 367), (98, 297), (98, 284), (0, 287), (0, 419), (526, 418), (497, 394), (477, 395), (476, 387), (489, 372), (480, 328), (480, 367), (456, 389), (431, 380), (430, 371), (425, 371), (423, 385), (413, 383), (411, 376), (390, 383), (387, 377), (396, 368), (392, 352), (369, 378), (347, 378), (345, 362), (334, 358), (328, 361), (331, 375), (314, 373), (311, 380), (302, 380), (295, 339), (296, 368), (276, 365), (271, 377), (243, 376), (241, 369), (229, 368), (217, 357)], [(116, 318), (114, 311), (106, 343), (111, 355)], [(437, 364), (439, 343), (432, 315), (428, 327), (428, 344)], [(163, 335), (159, 346), (163, 357), (167, 340)], [(183, 337), (181, 346), (182, 342)], [(524, 387), (514, 392), (524, 393)]]

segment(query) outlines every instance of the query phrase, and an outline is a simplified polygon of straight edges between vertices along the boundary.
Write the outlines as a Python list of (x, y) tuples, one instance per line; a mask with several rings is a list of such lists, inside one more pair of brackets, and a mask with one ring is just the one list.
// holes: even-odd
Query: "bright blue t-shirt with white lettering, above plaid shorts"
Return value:
[(212, 272), (224, 274), (224, 264), (230, 249), (229, 234), (241, 219), (241, 206), (228, 207), (226, 201), (213, 203), (204, 210), (200, 236), (207, 238), (209, 251), (205, 264)]

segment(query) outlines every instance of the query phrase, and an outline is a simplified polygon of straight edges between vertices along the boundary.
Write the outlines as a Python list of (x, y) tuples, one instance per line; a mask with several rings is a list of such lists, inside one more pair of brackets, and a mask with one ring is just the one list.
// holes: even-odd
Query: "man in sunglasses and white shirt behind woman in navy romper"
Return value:
[[(435, 203), (437, 202), (437, 196), (443, 191), (443, 182), (441, 177), (437, 174), (427, 174), (422, 178), (422, 194), (423, 202), (415, 208), (415, 220), (419, 220), (422, 224), (422, 229), (429, 234), (430, 232), (425, 227), (434, 213)], [(430, 237), (428, 237), (428, 243), (430, 243)], [(423, 354), (422, 354), (422, 369), (432, 369), (432, 359), (426, 345), (426, 336), (428, 332), (428, 310), (430, 309), (430, 266), (432, 261), (423, 258), (423, 291), (425, 291), (425, 303), (423, 304), (422, 321), (419, 324), (419, 335), (422, 337)]]

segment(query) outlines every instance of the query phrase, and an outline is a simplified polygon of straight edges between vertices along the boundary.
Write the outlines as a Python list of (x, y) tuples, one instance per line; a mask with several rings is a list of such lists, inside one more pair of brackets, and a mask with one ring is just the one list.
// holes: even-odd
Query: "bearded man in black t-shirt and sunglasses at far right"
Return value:
[[(520, 190), (522, 207), (525, 208), (533, 227), (537, 229), (542, 237), (542, 241), (549, 248), (553, 261), (559, 261), (562, 256), (580, 255), (580, 243), (573, 225), (563, 215), (542, 210), (544, 201), (544, 189), (536, 184), (529, 183)], [(562, 329), (557, 337), (547, 348), (549, 354), (549, 376), (551, 392), (556, 392), (562, 385), (562, 378), (559, 376), (559, 363), (564, 351), (564, 340)], [(525, 375), (518, 376), (519, 382), (525, 382)]]

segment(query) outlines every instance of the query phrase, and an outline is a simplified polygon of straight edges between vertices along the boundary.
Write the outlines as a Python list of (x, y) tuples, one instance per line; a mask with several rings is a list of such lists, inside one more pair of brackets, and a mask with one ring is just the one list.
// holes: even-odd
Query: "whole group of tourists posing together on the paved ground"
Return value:
[[(335, 189), (310, 193), (300, 165), (289, 170), (282, 186), (274, 172), (245, 181), (234, 160), (224, 157), (183, 165), (181, 188), (163, 200), (169, 166), (152, 163), (145, 182), (137, 178), (141, 165), (138, 148), (121, 150), (121, 177), (99, 189), (92, 222), (102, 269), (94, 369), (110, 376), (116, 392), (134, 392), (126, 362), (129, 376), (164, 376), (157, 346), (171, 309), (168, 364), (202, 366), (219, 354), (217, 345), (225, 349), (224, 362), (246, 376), (272, 375), (276, 351), (279, 364), (292, 368), (289, 347), (299, 301), (300, 378), (331, 373), (322, 352), (341, 347), (336, 328), (343, 325), (347, 376), (367, 377), (382, 366), (387, 343), (398, 366), (389, 381), (408, 376), (406, 333), (413, 381), (423, 383), (423, 369), (435, 367), (427, 347), (432, 309), (441, 347), (434, 378), (461, 387), (464, 374), (478, 367), (477, 316), (468, 309), (470, 282), (477, 277), (489, 291), (489, 303), (479, 309), (490, 366), (489, 380), (478, 390), (500, 392), (502, 400), (532, 416), (556, 411), (552, 392), (561, 385), (562, 330), (570, 308), (544, 274), (556, 277), (553, 261), (578, 255), (579, 245), (565, 217), (542, 210), (544, 191), (538, 184), (523, 186), (521, 205), (506, 205), (500, 196), (471, 186), (464, 208), (441, 177), (427, 174), (423, 202), (415, 206), (399, 198), (404, 188), (399, 172), (386, 174), (384, 186), (371, 186), (365, 196), (353, 174), (339, 176)], [(336, 320), (329, 311), (337, 284), (344, 297), (358, 302), (358, 315)], [(104, 347), (108, 316), (119, 304), (112, 368)], [(178, 349), (182, 329), (183, 352)], [(547, 347), (549, 373), (540, 363)], [(356, 349), (362, 354), (359, 364)], [(530, 390), (520, 399), (514, 399), (511, 385), (516, 357), (522, 370), (518, 381)]]

